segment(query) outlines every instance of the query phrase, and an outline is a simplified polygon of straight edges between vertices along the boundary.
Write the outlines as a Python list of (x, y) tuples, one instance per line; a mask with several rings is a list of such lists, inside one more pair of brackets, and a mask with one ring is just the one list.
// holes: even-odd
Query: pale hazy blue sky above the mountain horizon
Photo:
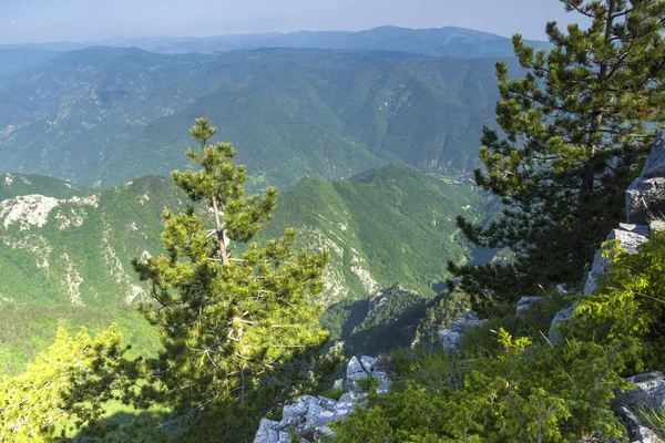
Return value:
[(457, 25), (544, 39), (559, 0), (0, 0), (0, 44), (112, 37)]

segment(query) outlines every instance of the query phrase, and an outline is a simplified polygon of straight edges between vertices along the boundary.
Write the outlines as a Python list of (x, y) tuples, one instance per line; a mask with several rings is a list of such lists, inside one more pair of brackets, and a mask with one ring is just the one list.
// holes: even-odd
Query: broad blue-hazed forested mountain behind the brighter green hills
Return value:
[(258, 50), (164, 55), (90, 48), (0, 81), (4, 172), (119, 184), (185, 165), (211, 117), (257, 185), (347, 178), (385, 162), (458, 174), (497, 100), (493, 61)]

